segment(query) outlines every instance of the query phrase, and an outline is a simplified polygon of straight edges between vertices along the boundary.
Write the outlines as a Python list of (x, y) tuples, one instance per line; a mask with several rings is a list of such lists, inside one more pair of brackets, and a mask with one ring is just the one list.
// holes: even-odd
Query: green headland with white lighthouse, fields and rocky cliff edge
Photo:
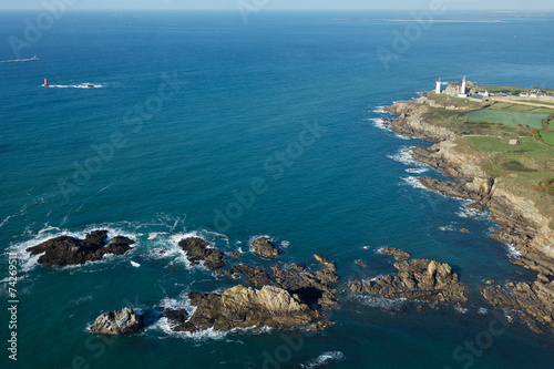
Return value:
[[(554, 329), (554, 96), (552, 90), (437, 82), (433, 92), (386, 110), (389, 127), (434, 144), (414, 160), (454, 181), (421, 177), (427, 188), (474, 201), (499, 225), (491, 236), (515, 250), (511, 262), (536, 273), (514, 284), (489, 280), (482, 297), (494, 307)], [(514, 276), (515, 277), (515, 276)]]

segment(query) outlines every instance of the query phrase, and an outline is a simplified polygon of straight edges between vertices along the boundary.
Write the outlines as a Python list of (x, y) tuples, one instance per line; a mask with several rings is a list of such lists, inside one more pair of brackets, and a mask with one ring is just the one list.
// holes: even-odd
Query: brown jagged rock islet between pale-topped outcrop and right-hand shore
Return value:
[(438, 303), (465, 303), (465, 287), (448, 264), (414, 259), (394, 264), (398, 274), (373, 280), (355, 280), (348, 286), (352, 294), (390, 299), (418, 299)]

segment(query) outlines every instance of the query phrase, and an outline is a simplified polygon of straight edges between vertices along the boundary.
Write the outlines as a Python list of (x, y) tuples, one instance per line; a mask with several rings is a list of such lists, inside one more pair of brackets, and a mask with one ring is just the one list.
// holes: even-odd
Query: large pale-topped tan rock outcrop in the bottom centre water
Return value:
[(297, 295), (275, 286), (254, 289), (238, 285), (222, 295), (191, 293), (188, 298), (196, 310), (188, 321), (177, 327), (179, 331), (289, 328), (325, 318), (325, 314), (310, 309)]

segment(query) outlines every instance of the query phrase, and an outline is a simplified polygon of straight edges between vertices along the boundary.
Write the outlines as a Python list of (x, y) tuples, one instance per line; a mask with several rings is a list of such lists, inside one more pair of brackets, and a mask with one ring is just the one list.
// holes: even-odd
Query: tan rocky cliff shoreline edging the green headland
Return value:
[(513, 194), (502, 181), (488, 175), (480, 165), (483, 156), (476, 151), (460, 150), (460, 136), (455, 132), (425, 120), (425, 113), (433, 107), (463, 109), (438, 106), (435, 101), (422, 95), (412, 102), (399, 102), (386, 107), (386, 111), (398, 115), (386, 120), (386, 125), (394, 133), (434, 143), (430, 147), (413, 147), (412, 157), (441, 170), (453, 181), (421, 177), (419, 182), (428, 189), (471, 199), (473, 207), (486, 209), (491, 219), (500, 226), (491, 237), (512, 246), (520, 255), (511, 263), (537, 274), (534, 281), (505, 281), (505, 287), (483, 287), (483, 299), (493, 307), (523, 311), (521, 319), (536, 331), (541, 329), (533, 319), (554, 329), (554, 230), (548, 227), (552, 219), (542, 215), (531, 199)]

